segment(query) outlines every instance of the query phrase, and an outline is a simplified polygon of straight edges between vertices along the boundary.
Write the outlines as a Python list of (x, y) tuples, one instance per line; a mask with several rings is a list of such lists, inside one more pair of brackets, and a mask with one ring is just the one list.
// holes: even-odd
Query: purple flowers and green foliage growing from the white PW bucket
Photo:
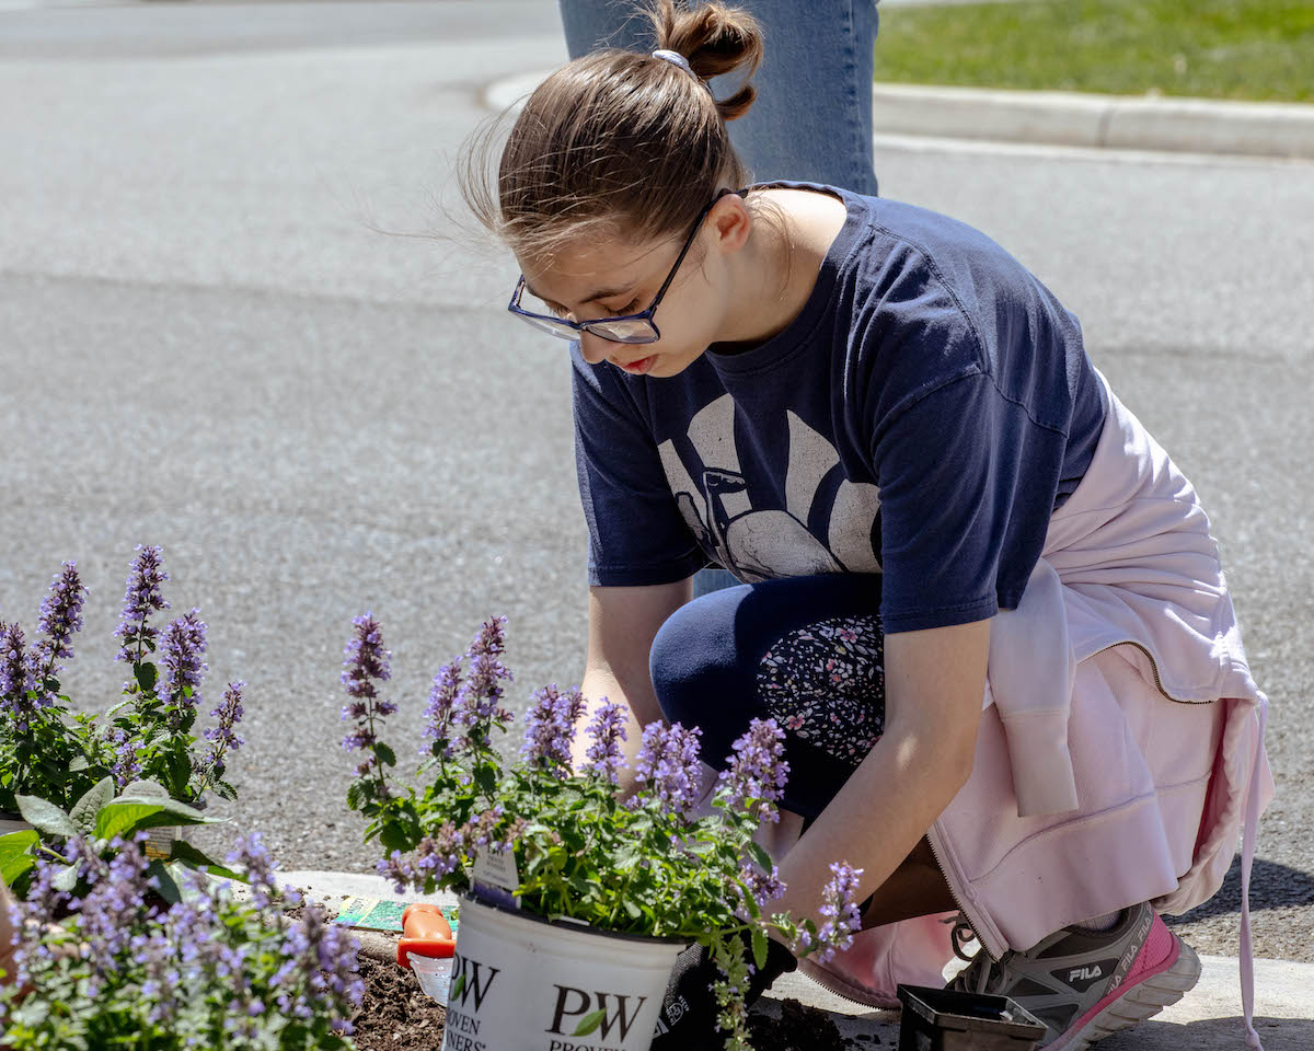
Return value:
[(495, 896), (474, 872), (481, 855), (501, 855), (499, 868), (515, 872), (515, 885), (503, 889), (527, 912), (699, 942), (723, 973), (715, 992), (725, 1047), (748, 1048), (742, 991), (766, 962), (769, 933), (799, 955), (824, 959), (859, 928), (851, 901), (859, 871), (848, 864), (832, 866), (820, 930), (811, 920), (769, 913), (784, 885), (753, 836), (778, 820), (788, 774), (782, 732), (754, 720), (704, 803), (700, 730), (649, 724), (632, 771), (637, 790), (627, 797), (618, 790), (624, 709), (610, 702), (594, 709), (591, 744), (573, 771), (572, 742), (587, 705), (578, 688), (548, 686), (531, 696), (519, 757), (507, 766), (494, 741), (512, 720), (502, 707), (511, 679), (501, 660), (505, 623), (486, 621), (469, 652), (439, 670), (419, 784), (403, 786), (390, 776), (396, 754), (380, 740), (384, 717), (396, 711), (374, 686), (388, 678), (389, 653), (374, 617), (356, 620), (343, 673), (352, 696), (343, 719), (352, 732), (343, 745), (364, 759), (347, 804), (365, 817), (365, 841), (377, 837), (388, 853), (378, 871), (398, 893)]

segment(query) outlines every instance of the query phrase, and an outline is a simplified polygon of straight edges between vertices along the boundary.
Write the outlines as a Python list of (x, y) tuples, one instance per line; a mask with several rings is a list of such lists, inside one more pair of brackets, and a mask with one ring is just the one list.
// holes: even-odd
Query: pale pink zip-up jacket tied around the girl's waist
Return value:
[[(1141, 901), (1187, 912), (1218, 891), (1244, 825), (1242, 1001), (1257, 1047), (1248, 889), (1273, 792), (1268, 702), (1194, 489), (1100, 382), (1095, 458), (1051, 518), (1018, 607), (991, 625), (972, 774), (928, 838), (997, 959)], [(942, 981), (942, 918), (863, 931), (803, 968), (894, 1006), (897, 983)]]

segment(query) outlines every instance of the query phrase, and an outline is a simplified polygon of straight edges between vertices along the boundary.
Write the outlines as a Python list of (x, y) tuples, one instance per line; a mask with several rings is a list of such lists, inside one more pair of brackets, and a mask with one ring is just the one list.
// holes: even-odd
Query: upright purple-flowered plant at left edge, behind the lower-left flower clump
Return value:
[[(20, 795), (68, 809), (105, 776), (118, 788), (139, 779), (163, 784), (173, 799), (204, 807), (213, 792), (234, 799), (225, 780), (227, 755), (243, 741), (242, 690), (229, 683), (210, 711), (217, 725), (208, 746), (192, 734), (206, 670), (206, 625), (200, 610), (163, 631), (151, 615), (170, 608), (168, 581), (158, 547), (138, 547), (116, 631), (116, 660), (131, 666), (124, 700), (102, 717), (71, 712), (59, 674), (74, 656), (72, 637), (83, 627), (87, 589), (76, 562), (64, 562), (41, 606), (42, 636), (29, 644), (17, 623), (0, 623), (0, 811), (18, 809)], [(100, 721), (99, 721), (100, 720)]]

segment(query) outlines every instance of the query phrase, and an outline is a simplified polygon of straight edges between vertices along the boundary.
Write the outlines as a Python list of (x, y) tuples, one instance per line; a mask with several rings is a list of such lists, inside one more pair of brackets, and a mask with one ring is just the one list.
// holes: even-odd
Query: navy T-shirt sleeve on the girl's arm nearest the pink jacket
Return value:
[(1062, 441), (979, 372), (888, 422), (874, 451), (887, 633), (986, 620), (1012, 604), (1000, 568), (1022, 566), (1025, 579), (1039, 558), (1056, 480), (1035, 476), (1056, 469)]

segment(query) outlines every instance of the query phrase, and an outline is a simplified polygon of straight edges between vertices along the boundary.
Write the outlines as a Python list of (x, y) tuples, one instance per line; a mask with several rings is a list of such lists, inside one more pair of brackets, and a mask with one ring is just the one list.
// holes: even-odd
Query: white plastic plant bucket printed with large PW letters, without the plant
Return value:
[(442, 1051), (649, 1051), (685, 947), (461, 899)]

